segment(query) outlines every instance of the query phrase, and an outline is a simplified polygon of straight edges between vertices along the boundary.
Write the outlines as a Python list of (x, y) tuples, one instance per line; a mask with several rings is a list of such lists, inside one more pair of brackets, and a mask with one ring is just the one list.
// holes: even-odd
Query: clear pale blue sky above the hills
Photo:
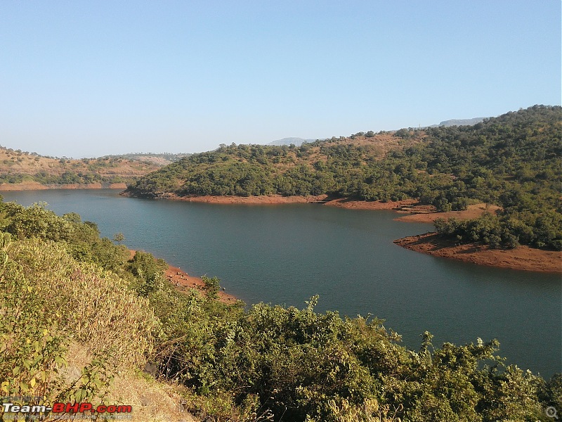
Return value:
[(0, 2), (0, 145), (197, 152), (561, 103), (560, 0)]

